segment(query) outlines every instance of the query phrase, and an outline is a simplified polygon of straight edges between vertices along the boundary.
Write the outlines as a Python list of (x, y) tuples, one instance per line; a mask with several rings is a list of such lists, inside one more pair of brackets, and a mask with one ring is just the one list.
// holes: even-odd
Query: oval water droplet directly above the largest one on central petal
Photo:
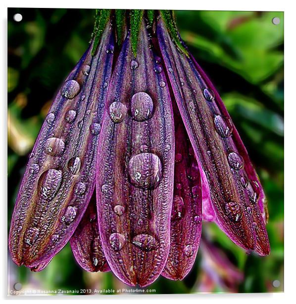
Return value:
[(145, 92), (138, 92), (131, 100), (131, 113), (135, 120), (145, 121), (151, 118), (153, 113), (153, 102)]

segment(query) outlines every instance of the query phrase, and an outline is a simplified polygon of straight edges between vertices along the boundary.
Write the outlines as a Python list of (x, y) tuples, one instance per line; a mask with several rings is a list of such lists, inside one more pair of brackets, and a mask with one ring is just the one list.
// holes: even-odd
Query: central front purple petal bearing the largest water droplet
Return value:
[(128, 36), (113, 72), (97, 162), (103, 251), (128, 285), (152, 283), (165, 266), (174, 151), (169, 88), (143, 23), (137, 57)]

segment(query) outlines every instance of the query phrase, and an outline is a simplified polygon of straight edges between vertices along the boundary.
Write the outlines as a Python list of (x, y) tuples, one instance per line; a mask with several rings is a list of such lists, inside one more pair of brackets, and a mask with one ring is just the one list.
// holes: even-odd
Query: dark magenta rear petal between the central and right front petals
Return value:
[(162, 275), (182, 280), (191, 270), (201, 236), (201, 183), (197, 161), (178, 111), (175, 120), (175, 176), (171, 244)]

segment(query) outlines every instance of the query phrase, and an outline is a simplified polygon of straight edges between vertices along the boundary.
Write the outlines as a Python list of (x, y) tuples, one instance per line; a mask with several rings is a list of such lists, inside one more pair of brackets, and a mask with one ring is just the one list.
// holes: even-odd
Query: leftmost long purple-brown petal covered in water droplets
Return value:
[(110, 25), (56, 95), (23, 177), (9, 249), (17, 265), (39, 266), (68, 242), (94, 192), (100, 120), (113, 54)]

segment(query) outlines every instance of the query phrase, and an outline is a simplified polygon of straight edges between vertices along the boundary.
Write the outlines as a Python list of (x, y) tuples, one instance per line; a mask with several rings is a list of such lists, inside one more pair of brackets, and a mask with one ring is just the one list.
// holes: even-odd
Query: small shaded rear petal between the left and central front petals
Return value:
[(101, 247), (95, 192), (70, 244), (77, 263), (86, 271), (110, 270)]

